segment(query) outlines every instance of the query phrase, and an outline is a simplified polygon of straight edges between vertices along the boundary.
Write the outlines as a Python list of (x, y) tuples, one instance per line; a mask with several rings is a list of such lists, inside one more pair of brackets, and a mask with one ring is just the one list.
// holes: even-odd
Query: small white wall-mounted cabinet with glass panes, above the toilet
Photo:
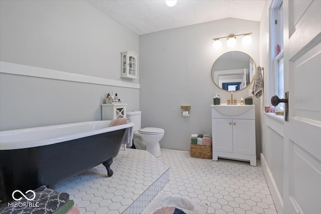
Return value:
[(121, 77), (138, 79), (138, 55), (135, 52), (121, 53)]

